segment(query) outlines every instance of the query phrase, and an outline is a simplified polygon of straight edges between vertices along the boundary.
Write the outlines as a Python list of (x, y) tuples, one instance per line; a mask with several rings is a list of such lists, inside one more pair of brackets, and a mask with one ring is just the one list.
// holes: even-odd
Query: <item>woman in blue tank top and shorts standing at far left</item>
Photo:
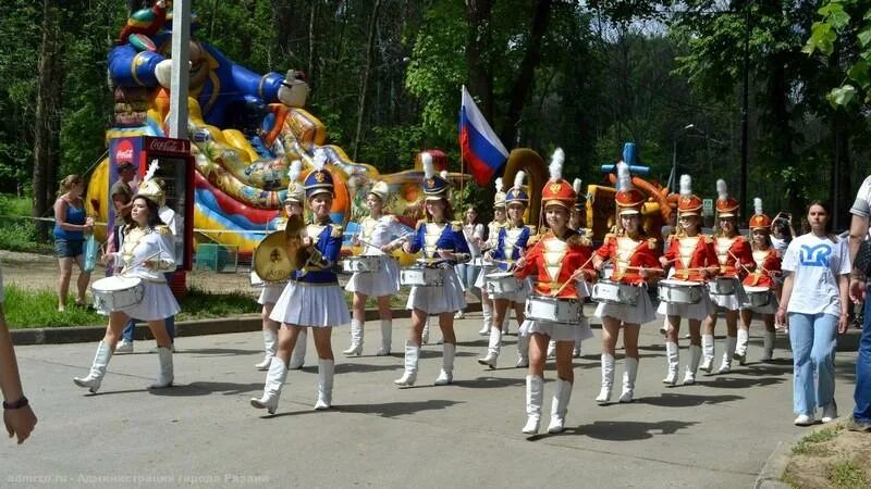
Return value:
[(61, 273), (58, 276), (58, 312), (66, 311), (66, 293), (70, 289), (70, 276), (73, 274), (73, 262), (78, 265), (75, 304), (84, 306), (85, 292), (90, 283), (90, 272), (85, 272), (85, 233), (94, 233), (94, 221), (85, 215), (85, 202), (82, 193), (85, 181), (78, 175), (68, 175), (61, 180), (58, 200), (54, 201), (54, 254)]

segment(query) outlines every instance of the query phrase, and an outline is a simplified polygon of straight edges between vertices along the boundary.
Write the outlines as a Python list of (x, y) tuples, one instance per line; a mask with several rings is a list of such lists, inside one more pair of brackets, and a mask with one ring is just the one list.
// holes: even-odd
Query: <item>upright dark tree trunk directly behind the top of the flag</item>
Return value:
[(481, 115), (493, 122), (493, 70), (490, 64), (490, 14), (492, 0), (466, 0), (468, 39), (466, 64), (469, 71), (469, 93), (477, 99)]

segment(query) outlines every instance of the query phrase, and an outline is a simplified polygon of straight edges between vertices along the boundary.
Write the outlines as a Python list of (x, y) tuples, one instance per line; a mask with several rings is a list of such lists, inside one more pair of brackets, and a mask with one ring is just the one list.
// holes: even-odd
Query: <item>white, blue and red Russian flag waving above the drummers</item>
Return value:
[(490, 183), (508, 159), (508, 150), (502, 146), (490, 124), (487, 124), (465, 85), (459, 109), (459, 150), (479, 186)]

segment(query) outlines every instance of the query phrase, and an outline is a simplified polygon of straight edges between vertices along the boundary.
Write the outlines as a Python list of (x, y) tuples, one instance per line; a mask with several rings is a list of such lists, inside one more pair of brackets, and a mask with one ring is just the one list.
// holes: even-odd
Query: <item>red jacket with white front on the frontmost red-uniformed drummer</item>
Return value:
[[(530, 239), (531, 242), (532, 239)], [(582, 275), (572, 278), (572, 275), (581, 265), (585, 269), (594, 273), (590, 260), (592, 256), (590, 240), (572, 229), (566, 230), (562, 238), (548, 230), (535, 244), (530, 246), (531, 248), (525, 255), (526, 263), (514, 272), (514, 276), (526, 278), (537, 273), (538, 283), (535, 286), (535, 293), (551, 296), (565, 285), (565, 288), (556, 297), (577, 299), (575, 281), (585, 278)], [(566, 281), (568, 281), (567, 285)]]

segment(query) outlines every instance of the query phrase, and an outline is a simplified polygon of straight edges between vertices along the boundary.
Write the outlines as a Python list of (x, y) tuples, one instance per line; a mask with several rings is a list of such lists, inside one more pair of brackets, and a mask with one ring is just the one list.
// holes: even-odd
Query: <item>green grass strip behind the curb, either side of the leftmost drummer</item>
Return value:
[[(68, 303), (73, 303), (72, 298)], [(182, 312), (175, 316), (176, 321), (226, 317), (260, 310), (254, 298), (243, 293), (210, 293), (196, 288), (188, 289), (179, 304)], [(53, 290), (27, 290), (14, 284), (5, 288), (4, 310), (10, 329), (97, 326), (107, 322), (106, 316), (74, 305), (60, 313)]]

